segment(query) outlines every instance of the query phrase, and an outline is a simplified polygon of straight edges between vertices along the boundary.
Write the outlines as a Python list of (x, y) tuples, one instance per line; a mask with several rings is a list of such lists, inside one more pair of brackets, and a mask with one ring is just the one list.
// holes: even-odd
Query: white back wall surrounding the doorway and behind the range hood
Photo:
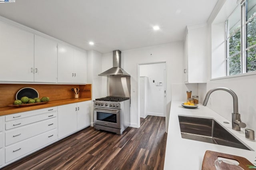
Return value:
[[(150, 55), (152, 53), (152, 55)], [(171, 84), (183, 83), (183, 42), (167, 43), (122, 51), (122, 68), (131, 75), (131, 126), (139, 127), (137, 68), (140, 63), (166, 61), (166, 114), (170, 112)], [(102, 71), (112, 67), (112, 53), (102, 55)], [(107, 95), (106, 77), (102, 79), (102, 94)], [(166, 115), (168, 116), (168, 115)]]

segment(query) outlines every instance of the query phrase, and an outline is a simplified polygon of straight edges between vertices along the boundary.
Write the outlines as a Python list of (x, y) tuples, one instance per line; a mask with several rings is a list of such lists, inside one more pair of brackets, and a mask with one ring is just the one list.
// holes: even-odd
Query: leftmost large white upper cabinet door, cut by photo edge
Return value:
[(34, 81), (34, 34), (0, 22), (0, 81)]

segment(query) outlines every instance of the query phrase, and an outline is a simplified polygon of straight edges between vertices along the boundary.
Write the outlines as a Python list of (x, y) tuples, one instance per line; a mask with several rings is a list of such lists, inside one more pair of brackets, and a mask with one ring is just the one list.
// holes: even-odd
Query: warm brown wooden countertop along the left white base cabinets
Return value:
[(36, 109), (43, 109), (43, 108), (47, 108), (47, 107), (66, 105), (66, 104), (70, 104), (70, 103), (89, 101), (89, 100), (92, 100), (92, 99), (91, 98), (64, 99), (64, 100), (49, 101), (46, 104), (28, 106), (28, 107), (12, 107), (12, 106), (1, 107), (0, 108), (0, 116), (10, 115), (13, 113), (20, 113), (20, 112), (25, 112), (25, 111), (32, 111), (32, 110), (36, 110)]

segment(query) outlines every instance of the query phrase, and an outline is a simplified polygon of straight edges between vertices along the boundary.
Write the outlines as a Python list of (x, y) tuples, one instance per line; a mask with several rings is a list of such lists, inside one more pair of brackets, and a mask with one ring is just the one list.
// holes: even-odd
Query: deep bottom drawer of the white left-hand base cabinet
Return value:
[(57, 140), (57, 138), (57, 129), (53, 129), (32, 138), (22, 140), (21, 142), (18, 142), (16, 144), (7, 146), (5, 148), (5, 162), (7, 163), (24, 154), (36, 151), (37, 148), (53, 142), (54, 140)]

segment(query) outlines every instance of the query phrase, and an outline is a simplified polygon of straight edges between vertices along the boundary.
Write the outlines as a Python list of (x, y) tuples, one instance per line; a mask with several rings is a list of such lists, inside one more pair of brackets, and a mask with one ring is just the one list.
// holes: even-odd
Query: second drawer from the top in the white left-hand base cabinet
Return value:
[(10, 121), (5, 124), (5, 129), (8, 130), (8, 129), (16, 128), (16, 127), (21, 127), (24, 125), (28, 125), (30, 123), (43, 121), (43, 120), (50, 119), (50, 118), (53, 118), (56, 116), (57, 116), (57, 112), (51, 112), (51, 113), (46, 113), (46, 114), (42, 114), (42, 115), (27, 117), (26, 119), (18, 119), (16, 121)]

